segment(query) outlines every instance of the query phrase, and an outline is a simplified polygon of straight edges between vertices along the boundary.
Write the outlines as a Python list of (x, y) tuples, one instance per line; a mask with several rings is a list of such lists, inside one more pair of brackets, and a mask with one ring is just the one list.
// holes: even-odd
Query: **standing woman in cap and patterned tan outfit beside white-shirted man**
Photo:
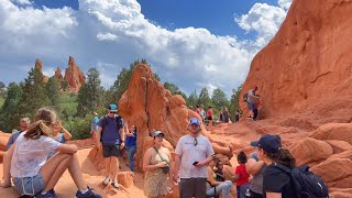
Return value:
[(155, 131), (153, 138), (154, 146), (150, 147), (143, 157), (143, 169), (145, 172), (144, 194), (148, 198), (162, 198), (168, 193), (167, 176), (172, 178), (170, 153), (168, 148), (162, 146), (163, 132)]

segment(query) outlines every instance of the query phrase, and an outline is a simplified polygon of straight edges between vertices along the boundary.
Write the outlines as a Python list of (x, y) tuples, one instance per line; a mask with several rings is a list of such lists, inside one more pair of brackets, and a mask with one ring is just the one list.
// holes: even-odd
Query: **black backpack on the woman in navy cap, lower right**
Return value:
[(308, 165), (289, 168), (287, 166), (276, 164), (275, 167), (290, 176), (295, 184), (297, 198), (329, 198), (329, 189), (327, 185), (318, 175), (309, 172)]

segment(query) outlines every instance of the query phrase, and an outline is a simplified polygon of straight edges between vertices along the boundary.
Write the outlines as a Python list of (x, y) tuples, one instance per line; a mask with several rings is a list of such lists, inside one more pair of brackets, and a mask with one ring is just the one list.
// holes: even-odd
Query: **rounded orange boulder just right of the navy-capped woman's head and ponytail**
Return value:
[(293, 143), (289, 151), (296, 158), (298, 166), (326, 160), (333, 154), (333, 150), (328, 143), (310, 138)]

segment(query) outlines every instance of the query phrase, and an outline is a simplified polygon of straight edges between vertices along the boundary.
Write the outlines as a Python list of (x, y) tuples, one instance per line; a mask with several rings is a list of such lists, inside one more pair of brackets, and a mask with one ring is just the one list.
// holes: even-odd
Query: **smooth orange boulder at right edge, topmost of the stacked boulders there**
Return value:
[(339, 140), (352, 144), (352, 123), (328, 123), (319, 127), (310, 135), (317, 140)]

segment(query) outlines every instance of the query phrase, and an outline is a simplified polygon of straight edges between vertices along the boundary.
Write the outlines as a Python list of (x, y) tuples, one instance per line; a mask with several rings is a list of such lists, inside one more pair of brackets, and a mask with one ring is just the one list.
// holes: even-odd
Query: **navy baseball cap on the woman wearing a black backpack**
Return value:
[(260, 147), (267, 153), (276, 153), (282, 143), (277, 135), (265, 134), (258, 141), (251, 142), (251, 146)]

